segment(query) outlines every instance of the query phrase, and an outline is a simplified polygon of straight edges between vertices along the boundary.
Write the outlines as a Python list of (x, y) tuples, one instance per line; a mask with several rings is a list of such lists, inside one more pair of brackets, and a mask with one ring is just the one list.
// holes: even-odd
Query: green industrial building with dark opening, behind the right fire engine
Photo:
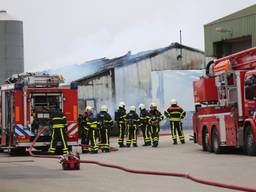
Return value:
[(204, 26), (206, 57), (220, 58), (256, 46), (256, 5)]

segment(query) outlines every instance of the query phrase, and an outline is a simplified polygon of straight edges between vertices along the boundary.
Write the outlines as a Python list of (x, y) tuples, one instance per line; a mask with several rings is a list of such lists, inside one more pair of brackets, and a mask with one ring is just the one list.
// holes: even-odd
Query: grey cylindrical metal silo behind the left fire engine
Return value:
[(13, 74), (24, 72), (23, 24), (0, 11), (0, 84)]

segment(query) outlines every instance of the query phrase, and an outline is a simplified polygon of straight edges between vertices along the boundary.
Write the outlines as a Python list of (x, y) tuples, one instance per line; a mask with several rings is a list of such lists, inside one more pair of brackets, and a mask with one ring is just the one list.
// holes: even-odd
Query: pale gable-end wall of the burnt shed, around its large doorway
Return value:
[(179, 49), (170, 49), (135, 64), (115, 68), (116, 105), (119, 101), (127, 105), (149, 105), (152, 102), (152, 71), (204, 68), (203, 53), (183, 49), (183, 58), (177, 61), (179, 54)]

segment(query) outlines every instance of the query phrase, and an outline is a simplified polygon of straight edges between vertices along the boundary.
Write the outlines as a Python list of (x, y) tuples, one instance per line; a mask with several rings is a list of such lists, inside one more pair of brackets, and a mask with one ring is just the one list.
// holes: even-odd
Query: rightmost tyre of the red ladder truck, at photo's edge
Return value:
[(246, 154), (250, 156), (256, 155), (256, 144), (254, 142), (254, 137), (251, 127), (247, 127), (245, 130), (245, 149)]

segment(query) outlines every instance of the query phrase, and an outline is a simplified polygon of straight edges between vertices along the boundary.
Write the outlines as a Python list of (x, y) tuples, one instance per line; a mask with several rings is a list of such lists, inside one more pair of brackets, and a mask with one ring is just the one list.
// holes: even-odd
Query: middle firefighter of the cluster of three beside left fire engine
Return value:
[(96, 143), (96, 131), (98, 129), (97, 116), (93, 114), (93, 108), (87, 107), (88, 118), (86, 126), (88, 127), (88, 139), (86, 140), (86, 146), (91, 144), (91, 153), (98, 153), (98, 145)]

